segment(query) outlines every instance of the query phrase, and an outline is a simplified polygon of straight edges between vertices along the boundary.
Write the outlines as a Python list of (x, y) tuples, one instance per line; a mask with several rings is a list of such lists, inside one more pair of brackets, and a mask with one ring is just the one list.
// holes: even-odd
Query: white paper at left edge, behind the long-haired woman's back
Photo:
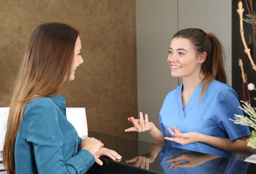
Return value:
[(4, 137), (6, 134), (7, 119), (10, 108), (0, 108), (0, 151), (3, 151)]

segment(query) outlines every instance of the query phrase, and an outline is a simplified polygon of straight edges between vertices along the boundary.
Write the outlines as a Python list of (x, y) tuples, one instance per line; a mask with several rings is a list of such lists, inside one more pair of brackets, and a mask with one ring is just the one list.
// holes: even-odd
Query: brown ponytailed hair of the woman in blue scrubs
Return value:
[(214, 79), (227, 83), (224, 70), (224, 49), (222, 43), (213, 33), (205, 33), (202, 29), (187, 28), (178, 31), (172, 38), (189, 39), (198, 54), (206, 52), (207, 56), (202, 64), (204, 78), (201, 83), (200, 99)]

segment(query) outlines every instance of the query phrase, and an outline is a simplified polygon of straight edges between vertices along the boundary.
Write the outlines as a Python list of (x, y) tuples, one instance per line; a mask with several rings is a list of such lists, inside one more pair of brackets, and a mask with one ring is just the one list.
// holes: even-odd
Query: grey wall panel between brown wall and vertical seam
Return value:
[[(177, 12), (176, 0), (136, 0), (138, 111), (148, 113), (157, 127), (164, 97), (178, 85), (167, 63), (170, 39), (177, 32)], [(139, 139), (154, 142), (147, 132), (139, 133)]]

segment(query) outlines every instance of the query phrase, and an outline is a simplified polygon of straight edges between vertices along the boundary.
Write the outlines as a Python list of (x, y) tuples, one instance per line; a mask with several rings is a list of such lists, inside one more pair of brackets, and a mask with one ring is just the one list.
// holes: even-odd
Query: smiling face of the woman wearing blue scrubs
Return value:
[(198, 55), (189, 39), (173, 38), (167, 61), (174, 77), (198, 78), (206, 53)]

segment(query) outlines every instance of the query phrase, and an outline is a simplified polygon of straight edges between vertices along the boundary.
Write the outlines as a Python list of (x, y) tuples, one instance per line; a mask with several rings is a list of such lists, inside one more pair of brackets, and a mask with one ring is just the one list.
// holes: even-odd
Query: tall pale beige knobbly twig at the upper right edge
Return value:
[(247, 54), (248, 59), (250, 60), (250, 63), (252, 65), (252, 69), (254, 69), (256, 71), (256, 66), (255, 66), (254, 61), (252, 60), (252, 56), (250, 54), (250, 49), (247, 47), (246, 41), (244, 39), (244, 26), (243, 26), (244, 8), (242, 8), (242, 7), (243, 7), (243, 3), (241, 1), (239, 1), (238, 2), (238, 9), (236, 10), (236, 12), (239, 15), (241, 39), (242, 39), (242, 43), (244, 45), (244, 52)]

